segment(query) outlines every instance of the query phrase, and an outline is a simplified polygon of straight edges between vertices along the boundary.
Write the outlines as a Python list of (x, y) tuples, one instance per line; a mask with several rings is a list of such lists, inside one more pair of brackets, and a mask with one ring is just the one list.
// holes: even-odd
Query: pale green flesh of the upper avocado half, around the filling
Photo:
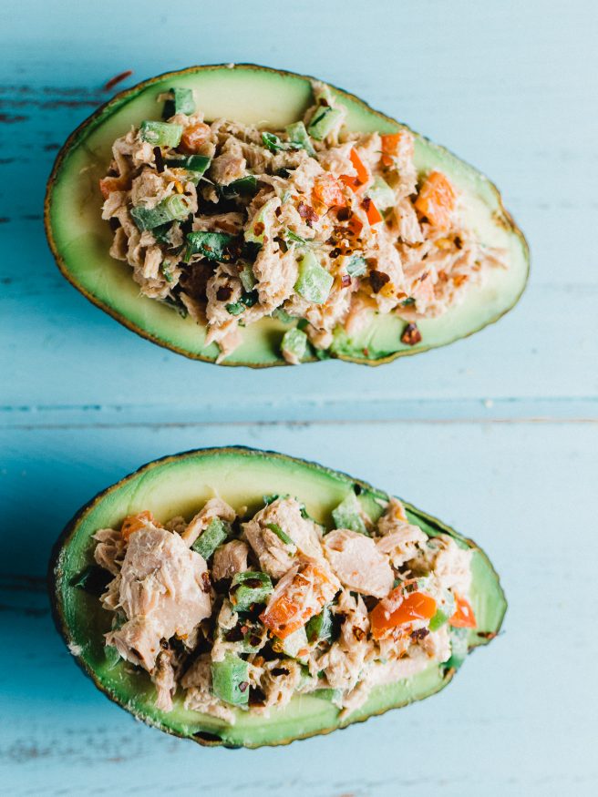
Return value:
[[(198, 108), (208, 120), (224, 117), (272, 129), (302, 118), (313, 101), (309, 77), (251, 65), (193, 66), (122, 92), (77, 128), (60, 151), (48, 182), (46, 232), (60, 270), (89, 300), (149, 340), (213, 362), (219, 349), (215, 343), (204, 344), (205, 327), (139, 295), (129, 265), (109, 256), (112, 233), (100, 218), (98, 179), (108, 169), (112, 143), (131, 125), (159, 119), (162, 104), (157, 97), (173, 85), (194, 89)], [(332, 91), (347, 108), (346, 124), (352, 130), (388, 133), (405, 127), (345, 91)], [(461, 193), (463, 222), (483, 243), (507, 250), (509, 268), (490, 271), (483, 286), (471, 289), (465, 301), (438, 319), (418, 322), (422, 340), (414, 346), (400, 340), (406, 322), (394, 315), (373, 314), (363, 332), (352, 338), (345, 332), (335, 336), (330, 353), (343, 360), (384, 363), (457, 341), (499, 319), (525, 287), (527, 244), (503, 208), (498, 190), (448, 150), (415, 135), (418, 169), (440, 169), (449, 177)], [(285, 364), (280, 344), (288, 328), (273, 318), (248, 326), (242, 331), (242, 344), (222, 364)]]

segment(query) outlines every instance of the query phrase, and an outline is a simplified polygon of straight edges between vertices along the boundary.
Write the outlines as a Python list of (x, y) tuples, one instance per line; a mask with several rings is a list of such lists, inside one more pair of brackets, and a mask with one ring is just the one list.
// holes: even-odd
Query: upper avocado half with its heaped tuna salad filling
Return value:
[(46, 231), (91, 301), (224, 364), (426, 351), (496, 321), (529, 268), (478, 171), (340, 89), (250, 65), (99, 108), (58, 155)]

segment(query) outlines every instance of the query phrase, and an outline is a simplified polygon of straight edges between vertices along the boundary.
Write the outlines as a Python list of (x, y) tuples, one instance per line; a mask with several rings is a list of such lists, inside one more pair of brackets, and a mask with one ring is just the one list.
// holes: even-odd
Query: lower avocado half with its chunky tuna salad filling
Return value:
[(57, 626), (162, 731), (259, 747), (441, 690), (506, 609), (486, 555), (343, 473), (248, 448), (149, 463), (67, 526)]

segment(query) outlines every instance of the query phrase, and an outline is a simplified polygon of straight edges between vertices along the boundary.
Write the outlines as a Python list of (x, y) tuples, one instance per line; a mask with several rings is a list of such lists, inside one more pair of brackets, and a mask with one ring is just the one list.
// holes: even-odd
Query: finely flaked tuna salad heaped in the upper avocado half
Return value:
[(449, 178), (418, 173), (407, 128), (349, 131), (324, 84), (283, 130), (206, 120), (191, 89), (158, 98), (163, 121), (117, 138), (99, 181), (110, 255), (144, 296), (201, 324), (219, 362), (267, 316), (288, 326), (288, 363), (325, 357), (376, 313), (404, 320), (415, 345), (418, 320), (505, 267), (464, 226)]

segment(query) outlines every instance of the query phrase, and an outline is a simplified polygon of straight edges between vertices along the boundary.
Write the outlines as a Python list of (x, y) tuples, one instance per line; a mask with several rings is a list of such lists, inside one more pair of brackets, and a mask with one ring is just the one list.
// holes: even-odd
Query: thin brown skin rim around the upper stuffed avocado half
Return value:
[[(119, 309), (111, 306), (108, 300), (102, 299), (94, 291), (90, 290), (86, 287), (81, 281), (80, 278), (77, 277), (77, 274), (73, 272), (72, 268), (67, 264), (67, 258), (64, 253), (61, 251), (60, 245), (57, 241), (57, 236), (55, 235), (55, 230), (53, 228), (53, 220), (52, 220), (52, 200), (53, 194), (55, 193), (55, 189), (57, 188), (57, 183), (59, 178), (61, 177), (61, 172), (65, 162), (67, 161), (67, 157), (71, 148), (75, 148), (80, 141), (85, 139), (85, 136), (88, 134), (89, 131), (93, 131), (98, 128), (100, 124), (100, 120), (106, 115), (107, 120), (109, 116), (113, 112), (119, 111), (122, 107), (126, 106), (126, 104), (134, 99), (135, 97), (139, 96), (139, 94), (147, 87), (152, 86), (153, 84), (158, 84), (160, 81), (164, 80), (176, 80), (178, 77), (189, 76), (196, 73), (201, 72), (210, 72), (214, 70), (226, 70), (231, 71), (231, 65), (205, 65), (205, 66), (191, 66), (186, 69), (181, 69), (179, 71), (164, 73), (158, 77), (152, 77), (149, 80), (143, 81), (139, 83), (135, 87), (131, 87), (124, 91), (119, 92), (115, 97), (109, 100), (104, 105), (100, 106), (97, 111), (95, 111), (88, 119), (86, 119), (79, 127), (67, 138), (66, 143), (64, 146), (59, 150), (57, 154), (57, 159), (55, 161), (54, 167), (50, 174), (50, 177), (47, 182), (47, 189), (46, 189), (46, 199), (44, 204), (44, 219), (45, 219), (45, 227), (46, 227), (46, 238), (48, 240), (48, 244), (52, 254), (57, 262), (57, 267), (59, 271), (63, 274), (63, 276), (69, 281), (77, 291), (81, 292), (89, 301), (96, 304), (101, 310), (107, 312), (112, 318), (114, 318), (119, 323), (126, 326), (132, 332), (136, 332), (141, 337), (157, 343), (158, 345), (170, 349), (170, 351), (180, 353), (186, 357), (189, 357), (194, 360), (201, 360), (202, 362), (207, 363), (215, 363), (217, 352), (215, 347), (212, 345), (210, 347), (213, 349), (213, 353), (207, 353), (204, 351), (198, 351), (195, 348), (191, 349), (189, 344), (185, 344), (182, 340), (177, 341), (177, 334), (172, 335), (165, 335), (163, 332), (155, 332), (152, 331), (151, 328), (147, 328), (147, 325), (141, 322), (135, 322), (128, 317), (126, 312), (120, 311)], [(254, 64), (235, 64), (233, 66), (234, 71), (244, 72), (244, 71), (253, 71), (258, 74), (268, 74), (273, 77), (280, 77), (280, 78), (290, 78), (290, 79), (303, 79), (307, 81), (314, 80), (313, 77), (304, 76), (304, 75), (297, 75), (293, 72), (288, 72), (279, 69), (273, 69), (267, 66), (257, 66)], [(330, 85), (330, 84), (329, 84)], [(331, 86), (332, 87), (332, 86)], [(280, 88), (280, 87), (279, 87)], [(356, 97), (349, 92), (346, 92), (342, 88), (332, 87), (335, 90), (335, 94), (337, 94), (341, 99), (345, 99), (352, 104), (355, 104), (357, 107), (360, 108), (360, 111), (372, 118), (377, 118), (380, 121), (381, 125), (386, 125), (388, 127), (389, 124), (394, 126), (395, 129), (398, 128), (406, 128), (407, 125), (397, 123), (394, 119), (387, 117), (387, 115), (381, 113), (380, 111), (376, 111), (375, 109), (369, 107), (367, 103), (361, 100), (359, 97)], [(108, 114), (109, 111), (109, 114)], [(413, 131), (412, 131), (413, 132)], [(393, 360), (397, 359), (398, 357), (404, 356), (413, 356), (414, 354), (424, 353), (431, 349), (438, 348), (439, 346), (448, 345), (451, 342), (456, 342), (461, 340), (462, 338), (469, 337), (470, 335), (474, 334), (475, 332), (479, 332), (481, 329), (485, 328), (486, 326), (490, 325), (491, 323), (499, 321), (499, 319), (509, 312), (512, 307), (519, 301), (521, 298), (522, 292), (525, 290), (527, 281), (529, 279), (529, 270), (530, 270), (530, 255), (529, 255), (529, 248), (527, 245), (527, 241), (525, 240), (521, 230), (516, 225), (515, 221), (513, 220), (512, 216), (510, 215), (509, 211), (505, 209), (502, 199), (500, 197), (500, 192), (496, 188), (496, 186), (490, 182), (489, 179), (486, 179), (484, 175), (481, 174), (476, 169), (472, 169), (469, 167), (465, 161), (460, 158), (456, 158), (453, 156), (449, 150), (446, 148), (439, 147), (438, 145), (433, 144), (429, 141), (428, 138), (421, 136), (418, 133), (414, 133), (416, 138), (420, 143), (425, 143), (430, 149), (433, 149), (436, 155), (444, 154), (448, 158), (449, 161), (459, 162), (460, 166), (464, 169), (468, 169), (469, 172), (474, 173), (477, 175), (479, 179), (479, 185), (482, 186), (483, 189), (490, 191), (492, 195), (492, 199), (496, 204), (496, 208), (493, 212), (493, 224), (496, 225), (497, 228), (501, 228), (503, 230), (507, 230), (510, 235), (518, 240), (518, 245), (521, 248), (521, 257), (525, 261), (525, 271), (520, 276), (518, 282), (518, 288), (516, 292), (511, 291), (510, 300), (504, 303), (500, 308), (497, 309), (496, 312), (493, 312), (490, 317), (484, 319), (478, 319), (470, 328), (467, 328), (465, 331), (454, 333), (448, 333), (445, 335), (444, 332), (440, 333), (440, 340), (438, 342), (429, 342), (429, 335), (424, 334), (424, 340), (416, 346), (405, 346), (399, 340), (400, 332), (395, 334), (395, 331), (388, 337), (388, 334), (385, 332), (382, 333), (382, 342), (380, 345), (376, 343), (376, 341), (372, 342), (363, 342), (363, 341), (356, 341), (353, 342), (346, 342), (345, 336), (341, 335), (339, 341), (336, 344), (333, 344), (331, 349), (326, 351), (326, 357), (317, 357), (312, 354), (311, 356), (307, 356), (302, 361), (303, 363), (316, 363), (322, 359), (329, 359), (330, 357), (335, 359), (344, 360), (345, 362), (350, 363), (358, 363), (358, 364), (366, 364), (366, 365), (382, 365), (385, 363), (390, 363)], [(469, 178), (471, 175), (469, 175)], [(99, 214), (99, 210), (98, 210)], [(105, 222), (102, 222), (105, 223)], [(131, 278), (132, 279), (132, 278)], [(153, 301), (153, 300), (148, 300)], [(157, 304), (158, 302), (155, 302)], [(151, 311), (146, 311), (146, 315), (151, 316)], [(426, 323), (426, 322), (424, 322)], [(257, 322), (253, 326), (260, 326), (263, 322)], [(151, 324), (149, 323), (149, 326)], [(235, 353), (232, 353), (221, 365), (227, 365), (229, 367), (237, 366), (237, 365), (244, 365), (247, 367), (252, 368), (266, 368), (266, 367), (273, 367), (273, 366), (282, 366), (288, 365), (284, 358), (282, 357), (278, 344), (274, 344), (273, 340), (277, 337), (282, 340), (282, 336), (284, 334), (285, 328), (277, 330), (280, 332), (279, 335), (273, 333), (271, 329), (263, 329), (263, 341), (258, 344), (258, 348), (256, 349), (256, 354), (253, 357), (250, 353), (249, 356), (247, 354), (243, 354), (241, 359), (235, 360)], [(174, 339), (173, 339), (174, 338)], [(428, 338), (428, 340), (427, 340)], [(264, 343), (266, 341), (267, 343)], [(280, 340), (278, 341), (280, 343)], [(267, 358), (264, 359), (263, 352), (260, 352), (260, 346), (266, 346), (269, 348), (270, 351), (267, 354)], [(243, 359), (245, 358), (245, 359)]]

